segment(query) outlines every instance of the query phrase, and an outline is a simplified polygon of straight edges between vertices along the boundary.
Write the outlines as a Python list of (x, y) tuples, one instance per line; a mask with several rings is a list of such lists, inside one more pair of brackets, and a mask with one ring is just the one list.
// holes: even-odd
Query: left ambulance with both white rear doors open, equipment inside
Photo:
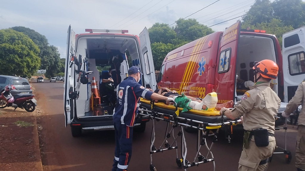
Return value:
[[(91, 94), (92, 78), (95, 77), (96, 87), (100, 88), (100, 73), (97, 66), (112, 65), (114, 59), (119, 59), (112, 68), (113, 79), (117, 84), (128, 75), (126, 52), (131, 56), (132, 65), (138, 66), (144, 74), (140, 83), (146, 88), (156, 89), (156, 76), (150, 48), (148, 30), (136, 35), (125, 34), (128, 30), (95, 30), (86, 29), (84, 34), (75, 34), (71, 26), (68, 28), (65, 84), (64, 84), (64, 114), (65, 125), (70, 124), (72, 136), (80, 136), (83, 130), (113, 130), (113, 108), (115, 104), (104, 103), (101, 98), (99, 107), (94, 107)], [(107, 70), (108, 71), (108, 70)], [(88, 83), (78, 82), (81, 73), (87, 74)], [(115, 86), (113, 86), (115, 87)], [(115, 87), (116, 88), (116, 87)], [(103, 91), (103, 89), (102, 89)], [(108, 91), (108, 90), (105, 90)], [(116, 89), (113, 90), (116, 93)], [(94, 104), (94, 105), (93, 105)], [(95, 112), (98, 108), (99, 112)], [(148, 117), (137, 115), (135, 130), (144, 131)]]

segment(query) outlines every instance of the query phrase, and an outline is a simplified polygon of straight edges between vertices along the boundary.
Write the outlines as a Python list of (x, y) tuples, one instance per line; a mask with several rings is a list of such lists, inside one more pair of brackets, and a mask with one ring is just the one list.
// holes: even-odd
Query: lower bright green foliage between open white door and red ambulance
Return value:
[(150, 45), (152, 49), (152, 58), (153, 63), (156, 70), (159, 70), (161, 68), (162, 62), (168, 52), (172, 51), (174, 49), (173, 44), (164, 44), (161, 42), (155, 42)]

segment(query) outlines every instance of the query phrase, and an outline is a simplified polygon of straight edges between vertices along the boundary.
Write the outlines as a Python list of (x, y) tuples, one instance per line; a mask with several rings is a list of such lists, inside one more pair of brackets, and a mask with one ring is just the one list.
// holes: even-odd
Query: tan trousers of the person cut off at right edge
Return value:
[(296, 135), (296, 168), (305, 170), (305, 125), (298, 126)]

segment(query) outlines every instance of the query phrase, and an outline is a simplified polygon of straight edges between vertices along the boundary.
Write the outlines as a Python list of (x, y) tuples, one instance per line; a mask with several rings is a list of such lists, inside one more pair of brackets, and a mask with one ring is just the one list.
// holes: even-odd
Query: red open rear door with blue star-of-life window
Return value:
[(219, 44), (214, 91), (218, 103), (235, 99), (236, 59), (240, 35), (240, 21), (228, 27)]

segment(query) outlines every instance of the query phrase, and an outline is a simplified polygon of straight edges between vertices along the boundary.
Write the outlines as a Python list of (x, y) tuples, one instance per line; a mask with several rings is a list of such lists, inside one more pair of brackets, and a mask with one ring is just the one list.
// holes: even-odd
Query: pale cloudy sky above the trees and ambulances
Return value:
[[(0, 0), (0, 29), (24, 26), (45, 35), (66, 56), (67, 29), (129, 30), (138, 35), (153, 23), (172, 24), (217, 0)], [(220, 0), (188, 17), (211, 26), (245, 14), (255, 0)], [(141, 8), (141, 9), (140, 9)], [(188, 19), (186, 18), (186, 19)], [(241, 17), (240, 17), (241, 18)], [(238, 19), (213, 26), (215, 31)], [(172, 25), (174, 26), (174, 25)]]

